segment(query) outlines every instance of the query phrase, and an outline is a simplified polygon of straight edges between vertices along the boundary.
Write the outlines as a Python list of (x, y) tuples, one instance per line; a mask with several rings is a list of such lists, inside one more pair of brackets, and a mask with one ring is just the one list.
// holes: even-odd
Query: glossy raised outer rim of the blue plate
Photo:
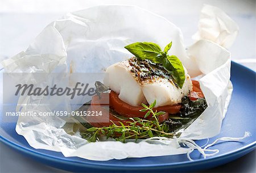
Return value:
[[(237, 62), (232, 61), (232, 64), (240, 66), (241, 68), (248, 70), (250, 73), (254, 73), (254, 75), (256, 75), (256, 71), (249, 69), (249, 67), (243, 66), (241, 64), (238, 64)], [(19, 134), (18, 134), (19, 135)], [(10, 146), (11, 148), (18, 150), (22, 153), (28, 154), (28, 155), (32, 155), (34, 157), (37, 158), (41, 158), (47, 161), (53, 161), (53, 162), (57, 162), (57, 163), (64, 163), (66, 165), (72, 165), (74, 166), (74, 164), (76, 164), (76, 166), (80, 166), (80, 167), (91, 167), (91, 168), (99, 168), (99, 169), (108, 169), (108, 170), (112, 170), (113, 168), (115, 169), (123, 169), (123, 168), (128, 168), (130, 170), (136, 169), (138, 170), (138, 168), (140, 170), (146, 169), (146, 168), (151, 168), (152, 169), (158, 169), (158, 168), (175, 168), (175, 167), (189, 167), (189, 166), (196, 166), (198, 164), (204, 164), (205, 162), (209, 163), (209, 162), (217, 162), (217, 161), (221, 161), (225, 158), (232, 158), (236, 155), (240, 155), (242, 153), (246, 153), (246, 151), (250, 151), (253, 149), (256, 149), (256, 141), (251, 142), (250, 144), (247, 144), (245, 146), (242, 146), (236, 150), (233, 151), (229, 151), (228, 153), (224, 153), (224, 154), (220, 154), (220, 155), (216, 155), (213, 157), (208, 157), (208, 158), (200, 158), (197, 159), (195, 161), (184, 161), (184, 162), (174, 162), (174, 163), (157, 163), (157, 164), (136, 164), (136, 165), (120, 165), (120, 164), (114, 164), (114, 163), (105, 163), (104, 161), (99, 161), (98, 162), (90, 162), (89, 159), (85, 159), (85, 162), (83, 161), (71, 161), (67, 158), (59, 158), (59, 157), (55, 157), (53, 155), (49, 155), (49, 154), (44, 154), (44, 153), (40, 153), (39, 151), (33, 150), (33, 149), (29, 149), (27, 147), (21, 146), (19, 144), (16, 144), (15, 142), (12, 142), (10, 140), (8, 140), (5, 137), (0, 136), (0, 142), (3, 142), (3, 144)], [(29, 144), (28, 144), (29, 145)], [(58, 152), (59, 153), (59, 152)], [(123, 159), (121, 159), (123, 160)]]

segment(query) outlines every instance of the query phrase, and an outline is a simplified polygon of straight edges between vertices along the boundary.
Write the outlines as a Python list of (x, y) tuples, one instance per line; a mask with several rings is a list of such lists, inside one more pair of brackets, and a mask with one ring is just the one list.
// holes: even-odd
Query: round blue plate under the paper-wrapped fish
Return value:
[[(255, 149), (255, 78), (256, 73), (246, 67), (232, 62), (231, 81), (234, 85), (232, 100), (223, 121), (221, 133), (209, 142), (219, 137), (241, 137), (245, 131), (251, 132), (251, 137), (242, 142), (221, 142), (212, 148), (220, 150), (214, 157), (204, 159), (199, 152), (194, 151), (188, 161), (185, 154), (164, 157), (127, 158), (111, 161), (89, 161), (78, 157), (65, 158), (61, 153), (48, 150), (37, 150), (30, 147), (23, 136), (15, 132), (15, 123), (0, 122), (0, 140), (21, 153), (36, 159), (38, 162), (68, 171), (196, 171), (204, 170), (233, 161)], [(204, 145), (206, 140), (196, 141)]]

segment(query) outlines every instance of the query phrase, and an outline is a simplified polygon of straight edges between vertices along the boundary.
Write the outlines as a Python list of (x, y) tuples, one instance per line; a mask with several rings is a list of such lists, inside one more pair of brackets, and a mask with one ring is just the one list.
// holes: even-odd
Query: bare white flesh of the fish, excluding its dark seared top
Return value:
[(155, 107), (181, 103), (181, 99), (192, 90), (191, 77), (185, 68), (185, 82), (181, 89), (170, 79), (158, 76), (141, 82), (133, 69), (129, 60), (117, 62), (106, 69), (104, 78), (104, 85), (117, 92), (119, 99), (131, 106), (141, 106), (154, 100)]

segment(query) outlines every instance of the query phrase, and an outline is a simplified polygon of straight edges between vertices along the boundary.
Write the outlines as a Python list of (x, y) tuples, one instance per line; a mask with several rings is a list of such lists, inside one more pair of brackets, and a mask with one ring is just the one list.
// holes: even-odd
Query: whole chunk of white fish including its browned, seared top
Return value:
[(149, 61), (130, 58), (108, 67), (104, 84), (119, 94), (119, 98), (132, 106), (152, 103), (166, 106), (181, 103), (181, 99), (192, 90), (191, 78), (185, 70), (185, 82), (180, 89), (171, 75), (162, 67)]

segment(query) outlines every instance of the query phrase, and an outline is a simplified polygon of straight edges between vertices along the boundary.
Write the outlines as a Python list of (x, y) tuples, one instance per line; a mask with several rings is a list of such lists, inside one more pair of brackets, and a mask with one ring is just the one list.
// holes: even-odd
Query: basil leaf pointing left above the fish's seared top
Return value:
[(129, 52), (141, 60), (151, 60), (156, 62), (156, 57), (161, 56), (161, 48), (158, 44), (151, 42), (137, 42), (125, 47)]

